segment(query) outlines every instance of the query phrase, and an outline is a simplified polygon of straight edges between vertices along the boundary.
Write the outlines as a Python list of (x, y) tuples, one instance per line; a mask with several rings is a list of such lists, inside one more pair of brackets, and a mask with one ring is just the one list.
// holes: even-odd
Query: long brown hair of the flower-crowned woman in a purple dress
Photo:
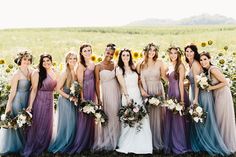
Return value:
[(175, 79), (178, 80), (179, 78), (179, 66), (182, 64), (182, 60), (181, 60), (181, 55), (182, 55), (182, 50), (179, 47), (175, 47), (175, 46), (171, 46), (168, 48), (167, 52), (171, 53), (171, 50), (176, 50), (177, 51), (177, 60), (176, 60), (176, 64), (175, 64), (175, 70), (174, 70), (174, 76)]

